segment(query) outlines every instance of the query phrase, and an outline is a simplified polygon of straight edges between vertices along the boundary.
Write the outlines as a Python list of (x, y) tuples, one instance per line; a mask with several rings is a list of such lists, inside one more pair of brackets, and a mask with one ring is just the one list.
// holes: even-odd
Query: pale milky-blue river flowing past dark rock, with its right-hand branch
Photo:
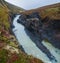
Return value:
[(56, 58), (57, 62), (50, 61), (47, 55), (39, 49), (36, 44), (29, 38), (29, 36), (25, 32), (25, 27), (17, 22), (20, 15), (16, 15), (13, 20), (13, 32), (19, 42), (19, 44), (23, 47), (24, 51), (28, 55), (32, 55), (44, 63), (60, 63), (60, 50), (53, 47), (50, 43), (42, 41), (42, 44), (50, 51), (50, 53)]

